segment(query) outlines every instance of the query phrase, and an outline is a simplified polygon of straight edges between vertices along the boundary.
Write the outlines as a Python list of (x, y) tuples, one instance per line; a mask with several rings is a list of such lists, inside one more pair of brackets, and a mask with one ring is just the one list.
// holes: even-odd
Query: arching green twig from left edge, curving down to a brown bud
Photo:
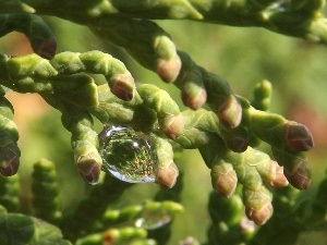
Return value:
[(36, 54), (14, 58), (1, 56), (0, 68), (1, 83), (20, 93), (53, 93), (56, 87), (60, 91), (69, 90), (72, 88), (70, 83), (53, 84), (61, 77), (68, 79), (68, 75), (82, 72), (102, 74), (111, 91), (121, 99), (131, 100), (135, 90), (134, 79), (124, 64), (100, 51), (63, 52), (50, 61)]

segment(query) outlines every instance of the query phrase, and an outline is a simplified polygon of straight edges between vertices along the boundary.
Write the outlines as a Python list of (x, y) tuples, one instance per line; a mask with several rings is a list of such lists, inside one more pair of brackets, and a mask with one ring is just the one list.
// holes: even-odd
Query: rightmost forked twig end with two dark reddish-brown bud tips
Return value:
[(308, 188), (311, 171), (303, 152), (314, 147), (308, 128), (263, 111), (253, 112), (251, 121), (255, 135), (271, 146), (272, 155), (284, 168), (288, 181), (299, 189)]

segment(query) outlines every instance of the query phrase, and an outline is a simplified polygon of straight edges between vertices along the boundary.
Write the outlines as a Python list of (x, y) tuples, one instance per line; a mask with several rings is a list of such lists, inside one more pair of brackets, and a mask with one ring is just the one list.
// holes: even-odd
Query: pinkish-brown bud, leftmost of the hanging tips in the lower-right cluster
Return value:
[(211, 169), (213, 187), (223, 197), (231, 197), (237, 189), (238, 175), (232, 164), (223, 162)]

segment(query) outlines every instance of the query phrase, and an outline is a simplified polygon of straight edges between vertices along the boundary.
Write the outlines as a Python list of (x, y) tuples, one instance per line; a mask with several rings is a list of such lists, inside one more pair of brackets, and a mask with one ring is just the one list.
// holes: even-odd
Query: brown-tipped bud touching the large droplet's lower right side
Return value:
[(177, 182), (178, 176), (179, 176), (179, 169), (172, 161), (165, 169), (159, 168), (157, 182), (165, 187), (172, 188)]

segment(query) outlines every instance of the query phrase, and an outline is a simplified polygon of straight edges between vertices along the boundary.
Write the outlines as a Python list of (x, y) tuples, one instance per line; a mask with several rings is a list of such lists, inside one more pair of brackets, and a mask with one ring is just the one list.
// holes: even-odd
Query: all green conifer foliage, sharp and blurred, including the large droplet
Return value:
[[(206, 244), (295, 244), (302, 232), (326, 231), (326, 176), (313, 198), (295, 205), (300, 191), (312, 181), (305, 155), (314, 147), (310, 130), (268, 111), (272, 91), (268, 81), (254, 87), (252, 100), (237, 95), (229, 82), (178, 50), (169, 33), (154, 22), (257, 26), (326, 45), (324, 4), (324, 0), (0, 0), (0, 36), (23, 33), (34, 50), (16, 57), (0, 53), (1, 244), (167, 244), (173, 233), (170, 222), (183, 210), (174, 203), (182, 189), (178, 177), (183, 173), (175, 163), (182, 149), (198, 149), (210, 170), (214, 191)], [(106, 52), (57, 53), (56, 36), (41, 17), (46, 15), (87, 26), (104, 42), (123, 48), (177, 86), (186, 109), (159, 86), (135, 83), (125, 64)], [(107, 83), (98, 82), (97, 75)], [(70, 213), (60, 207), (56, 166), (46, 159), (34, 166), (33, 213), (20, 213), (21, 151), (14, 109), (4, 97), (9, 89), (39, 94), (61, 113), (62, 126), (71, 133), (75, 168), (92, 186)], [(95, 119), (102, 132), (97, 132)], [(270, 151), (259, 149), (259, 143)], [(114, 207), (124, 191), (150, 182), (149, 176), (161, 187), (155, 200)], [(199, 242), (187, 237), (180, 244)]]

